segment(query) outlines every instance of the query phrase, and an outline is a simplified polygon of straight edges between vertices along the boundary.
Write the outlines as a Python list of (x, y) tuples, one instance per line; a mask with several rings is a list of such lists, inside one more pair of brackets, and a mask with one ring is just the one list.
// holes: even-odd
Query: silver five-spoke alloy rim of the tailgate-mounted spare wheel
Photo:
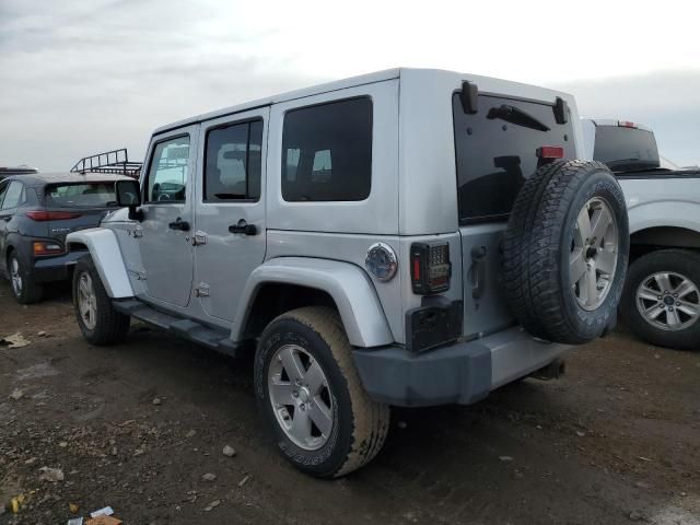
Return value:
[(594, 311), (608, 296), (619, 250), (617, 221), (602, 197), (590, 199), (579, 212), (569, 258), (571, 289), (579, 305)]

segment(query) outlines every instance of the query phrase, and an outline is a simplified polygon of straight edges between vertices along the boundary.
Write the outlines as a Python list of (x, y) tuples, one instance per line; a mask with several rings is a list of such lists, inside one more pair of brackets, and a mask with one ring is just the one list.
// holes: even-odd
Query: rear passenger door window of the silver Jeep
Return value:
[(205, 201), (258, 200), (262, 171), (262, 120), (207, 133)]

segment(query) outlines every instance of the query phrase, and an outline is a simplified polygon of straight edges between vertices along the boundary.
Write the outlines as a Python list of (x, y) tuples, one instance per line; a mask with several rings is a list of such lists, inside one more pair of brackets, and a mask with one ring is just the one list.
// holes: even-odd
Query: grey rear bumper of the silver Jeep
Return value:
[(546, 366), (569, 348), (533, 339), (522, 327), (514, 327), (419, 354), (385, 347), (357, 349), (353, 355), (362, 384), (374, 400), (428, 407), (476, 402)]

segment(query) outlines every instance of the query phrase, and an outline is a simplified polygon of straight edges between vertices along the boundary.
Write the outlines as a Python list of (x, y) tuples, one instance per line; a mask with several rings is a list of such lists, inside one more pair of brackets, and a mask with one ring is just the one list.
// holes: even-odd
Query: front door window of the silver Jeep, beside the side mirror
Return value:
[(155, 144), (148, 175), (148, 202), (185, 202), (189, 137), (177, 137)]

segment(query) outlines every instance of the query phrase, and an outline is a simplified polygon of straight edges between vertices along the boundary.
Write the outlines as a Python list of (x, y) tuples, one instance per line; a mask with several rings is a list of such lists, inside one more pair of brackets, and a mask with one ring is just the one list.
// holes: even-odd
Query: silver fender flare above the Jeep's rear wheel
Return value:
[(350, 345), (361, 348), (394, 342), (384, 310), (364, 271), (349, 262), (280, 257), (256, 268), (243, 291), (232, 335), (240, 337), (258, 290), (267, 283), (296, 284), (328, 293), (338, 307)]

